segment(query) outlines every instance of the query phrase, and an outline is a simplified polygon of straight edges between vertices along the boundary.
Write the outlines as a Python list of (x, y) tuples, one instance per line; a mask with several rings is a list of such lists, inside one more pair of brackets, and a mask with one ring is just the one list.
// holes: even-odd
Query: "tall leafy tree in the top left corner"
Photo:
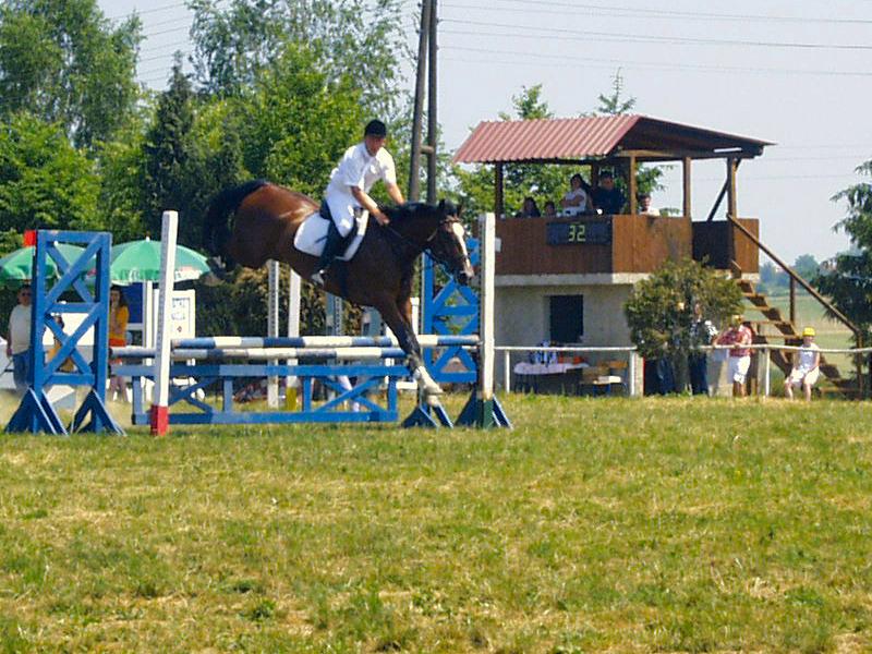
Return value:
[(97, 0), (0, 7), (0, 118), (27, 110), (77, 146), (110, 140), (134, 111), (141, 24), (106, 20)]

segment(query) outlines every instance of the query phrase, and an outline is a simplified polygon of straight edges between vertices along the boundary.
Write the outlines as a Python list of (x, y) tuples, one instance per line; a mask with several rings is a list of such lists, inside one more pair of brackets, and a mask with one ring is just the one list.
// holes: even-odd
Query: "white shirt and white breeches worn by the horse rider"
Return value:
[(354, 225), (354, 209), (360, 206), (351, 194), (351, 187), (356, 186), (368, 193), (378, 180), (384, 180), (387, 184), (397, 183), (393, 157), (384, 147), (373, 157), (367, 152), (365, 143), (352, 145), (342, 155), (339, 165), (334, 168), (325, 199), (343, 237)]

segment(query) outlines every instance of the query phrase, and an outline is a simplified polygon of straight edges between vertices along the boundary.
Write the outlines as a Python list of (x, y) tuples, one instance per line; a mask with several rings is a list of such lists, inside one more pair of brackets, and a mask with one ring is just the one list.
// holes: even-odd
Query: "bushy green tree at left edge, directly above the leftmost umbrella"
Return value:
[(60, 124), (17, 113), (0, 125), (0, 230), (98, 229), (95, 167)]

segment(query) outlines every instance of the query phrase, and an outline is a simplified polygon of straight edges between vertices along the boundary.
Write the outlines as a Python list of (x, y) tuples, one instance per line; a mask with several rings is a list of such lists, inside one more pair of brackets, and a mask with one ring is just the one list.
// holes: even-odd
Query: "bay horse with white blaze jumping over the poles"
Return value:
[[(446, 201), (438, 205), (407, 203), (382, 210), (390, 223), (383, 227), (370, 217), (356, 254), (347, 263), (334, 263), (324, 288), (354, 304), (378, 310), (405, 352), (419, 387), (426, 396), (438, 395), (441, 389), (424, 366), (412, 328), (414, 262), (427, 252), (460, 283), (468, 284), (474, 270), (463, 223), (455, 205)], [(303, 221), (317, 211), (318, 204), (302, 193), (264, 180), (246, 182), (221, 191), (213, 199), (204, 223), (204, 244), (210, 254), (247, 268), (259, 268), (275, 259), (310, 279), (318, 257), (296, 250), (293, 240)], [(341, 265), (348, 266), (344, 279), (337, 275)]]

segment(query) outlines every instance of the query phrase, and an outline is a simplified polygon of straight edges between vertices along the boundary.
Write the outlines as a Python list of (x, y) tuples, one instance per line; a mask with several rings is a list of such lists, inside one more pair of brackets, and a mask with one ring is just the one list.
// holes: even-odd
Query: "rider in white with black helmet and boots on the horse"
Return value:
[(388, 223), (388, 217), (368, 195), (373, 184), (383, 180), (391, 199), (397, 204), (404, 202), (402, 192), (397, 185), (393, 157), (384, 147), (387, 134), (385, 123), (380, 120), (371, 120), (363, 131), (363, 142), (348, 148), (339, 165), (330, 173), (325, 203), (332, 217), (332, 223), (327, 230), (327, 240), (317, 271), (312, 276), (312, 280), (316, 283), (324, 284), (327, 268), (339, 254), (342, 240), (354, 227), (354, 216), (360, 207), (370, 211), (379, 225)]

